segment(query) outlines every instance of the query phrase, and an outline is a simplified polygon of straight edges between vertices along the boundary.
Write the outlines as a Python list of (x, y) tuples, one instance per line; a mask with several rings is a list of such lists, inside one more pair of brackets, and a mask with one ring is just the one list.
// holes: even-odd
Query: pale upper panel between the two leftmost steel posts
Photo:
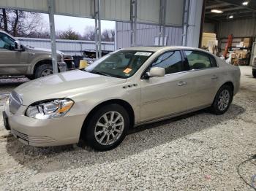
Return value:
[(91, 17), (91, 0), (55, 0), (56, 15)]

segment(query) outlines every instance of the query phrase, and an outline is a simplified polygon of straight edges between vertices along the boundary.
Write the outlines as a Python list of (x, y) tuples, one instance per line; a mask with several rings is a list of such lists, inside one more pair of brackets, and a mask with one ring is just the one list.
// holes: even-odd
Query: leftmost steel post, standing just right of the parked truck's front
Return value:
[(50, 23), (50, 44), (51, 44), (51, 58), (52, 58), (52, 64), (53, 64), (53, 73), (58, 73), (54, 11), (55, 11), (54, 1), (48, 0), (48, 15), (49, 15), (49, 23)]

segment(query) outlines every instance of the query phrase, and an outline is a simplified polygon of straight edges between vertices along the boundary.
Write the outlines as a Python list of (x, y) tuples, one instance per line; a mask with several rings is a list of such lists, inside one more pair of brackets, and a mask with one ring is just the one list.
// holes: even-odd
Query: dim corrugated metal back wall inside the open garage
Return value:
[(219, 23), (218, 38), (256, 36), (256, 18), (233, 20)]

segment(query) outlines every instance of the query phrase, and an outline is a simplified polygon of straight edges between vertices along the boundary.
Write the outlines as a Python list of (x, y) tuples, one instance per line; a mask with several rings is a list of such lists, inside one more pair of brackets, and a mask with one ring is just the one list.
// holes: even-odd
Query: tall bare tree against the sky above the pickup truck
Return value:
[(0, 9), (0, 29), (12, 36), (33, 36), (46, 30), (39, 13), (14, 9)]

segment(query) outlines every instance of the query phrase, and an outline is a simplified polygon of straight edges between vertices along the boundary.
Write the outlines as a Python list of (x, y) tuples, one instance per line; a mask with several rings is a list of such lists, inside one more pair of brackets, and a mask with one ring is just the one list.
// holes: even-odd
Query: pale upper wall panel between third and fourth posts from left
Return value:
[(138, 0), (137, 17), (141, 23), (159, 23), (160, 0)]

